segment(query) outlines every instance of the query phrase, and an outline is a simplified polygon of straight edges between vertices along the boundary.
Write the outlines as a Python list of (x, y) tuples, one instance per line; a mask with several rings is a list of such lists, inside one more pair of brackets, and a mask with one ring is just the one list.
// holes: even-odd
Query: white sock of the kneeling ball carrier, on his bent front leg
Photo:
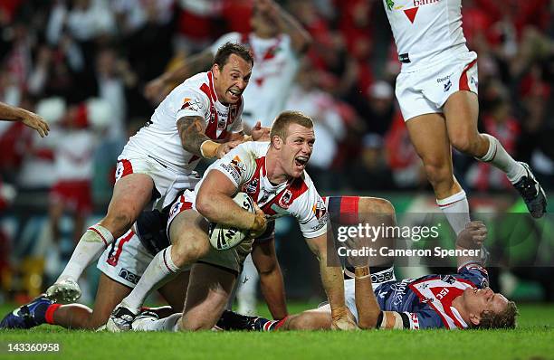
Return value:
[(148, 268), (144, 270), (144, 274), (142, 274), (139, 282), (135, 285), (135, 289), (130, 292), (127, 298), (121, 301), (121, 306), (129, 308), (133, 313), (138, 314), (150, 291), (156, 289), (156, 285), (164, 281), (169, 275), (180, 271), (171, 260), (172, 247), (173, 245), (170, 245), (156, 254), (154, 259), (150, 261)]

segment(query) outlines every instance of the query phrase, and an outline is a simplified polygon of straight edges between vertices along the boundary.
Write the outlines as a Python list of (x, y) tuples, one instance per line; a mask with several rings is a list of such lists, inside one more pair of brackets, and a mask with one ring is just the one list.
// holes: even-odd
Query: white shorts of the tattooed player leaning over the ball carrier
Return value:
[(118, 157), (116, 182), (129, 174), (145, 174), (152, 178), (159, 194), (159, 197), (154, 200), (153, 208), (160, 211), (173, 203), (180, 192), (194, 189), (200, 181), (196, 171), (191, 174), (179, 173), (154, 157), (126, 148)]

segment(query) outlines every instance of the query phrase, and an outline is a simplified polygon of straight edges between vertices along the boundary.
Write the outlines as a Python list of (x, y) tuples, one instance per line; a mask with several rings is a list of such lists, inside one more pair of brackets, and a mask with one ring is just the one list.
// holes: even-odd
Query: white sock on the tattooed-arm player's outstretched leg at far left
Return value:
[(72, 253), (72, 258), (63, 269), (62, 275), (58, 278), (77, 280), (81, 277), (84, 271), (92, 261), (95, 261), (100, 256), (110, 243), (113, 242), (111, 232), (100, 224), (92, 225), (82, 235), (81, 240), (77, 243), (75, 250)]

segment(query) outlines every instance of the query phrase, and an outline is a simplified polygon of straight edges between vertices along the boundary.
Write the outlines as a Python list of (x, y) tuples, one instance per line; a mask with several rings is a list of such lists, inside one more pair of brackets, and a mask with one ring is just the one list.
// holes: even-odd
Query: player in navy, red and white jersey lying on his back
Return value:
[[(483, 223), (468, 223), (456, 240), (456, 249), (481, 249)], [(488, 287), (487, 271), (479, 257), (458, 257), (456, 274), (432, 274), (419, 279), (389, 281), (372, 291), (367, 266), (345, 284), (349, 315), (360, 328), (514, 328), (517, 308)], [(143, 320), (144, 321), (144, 320)], [(272, 331), (330, 328), (328, 306), (276, 321), (225, 311), (218, 327)]]

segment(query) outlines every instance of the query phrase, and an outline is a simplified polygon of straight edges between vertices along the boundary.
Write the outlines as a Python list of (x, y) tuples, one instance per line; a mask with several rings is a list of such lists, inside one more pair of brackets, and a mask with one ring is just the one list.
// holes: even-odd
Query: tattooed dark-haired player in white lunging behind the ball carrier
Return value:
[(47, 289), (50, 298), (79, 298), (76, 280), (82, 271), (129, 230), (150, 201), (158, 208), (171, 204), (180, 190), (198, 182), (193, 170), (200, 157), (221, 157), (244, 140), (242, 93), (252, 66), (248, 49), (226, 43), (215, 54), (211, 71), (167, 95), (123, 149), (108, 213), (82, 235), (62, 275)]

